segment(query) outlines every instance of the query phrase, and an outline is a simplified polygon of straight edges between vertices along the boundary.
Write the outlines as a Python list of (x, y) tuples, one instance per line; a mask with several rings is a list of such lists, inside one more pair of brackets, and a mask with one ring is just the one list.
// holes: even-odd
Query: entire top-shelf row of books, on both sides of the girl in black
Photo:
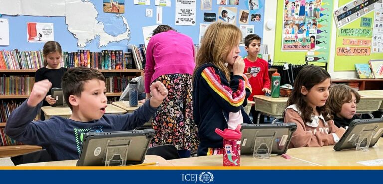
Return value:
[[(124, 70), (143, 69), (146, 48), (144, 44), (139, 46), (129, 45), (128, 52), (122, 50), (102, 50), (102, 52), (90, 52), (90, 50), (78, 50), (78, 52), (62, 53), (61, 66), (73, 68), (79, 66), (91, 67), (100, 70)], [(39, 69), (44, 66), (43, 52), (39, 51), (11, 51), (0, 50), (0, 69)]]

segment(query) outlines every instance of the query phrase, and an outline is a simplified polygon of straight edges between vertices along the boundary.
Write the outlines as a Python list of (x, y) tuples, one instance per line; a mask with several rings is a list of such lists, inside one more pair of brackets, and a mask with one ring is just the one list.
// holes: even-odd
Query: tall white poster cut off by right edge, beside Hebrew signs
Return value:
[(383, 53), (383, 3), (375, 5), (371, 52)]

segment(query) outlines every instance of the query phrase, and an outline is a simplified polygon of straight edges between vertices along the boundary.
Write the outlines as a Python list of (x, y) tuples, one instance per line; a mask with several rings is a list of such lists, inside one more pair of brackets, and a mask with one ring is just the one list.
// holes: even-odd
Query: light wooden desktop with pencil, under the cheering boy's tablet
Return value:
[[(148, 166), (173, 166), (170, 162), (157, 155), (146, 155), (144, 163), (159, 162), (159, 164)], [(17, 166), (76, 166), (77, 160), (62, 160), (52, 162), (37, 162), (29, 164), (20, 164)]]

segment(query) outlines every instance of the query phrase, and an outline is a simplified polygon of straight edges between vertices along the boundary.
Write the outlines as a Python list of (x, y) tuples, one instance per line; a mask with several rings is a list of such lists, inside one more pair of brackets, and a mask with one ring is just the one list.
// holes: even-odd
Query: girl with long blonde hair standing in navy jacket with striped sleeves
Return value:
[(245, 63), (239, 56), (241, 38), (238, 27), (219, 22), (207, 28), (202, 40), (193, 73), (192, 96), (200, 138), (198, 156), (222, 154), (223, 139), (214, 132), (216, 128), (235, 129), (240, 123), (252, 123), (243, 108), (251, 87), (243, 74)]

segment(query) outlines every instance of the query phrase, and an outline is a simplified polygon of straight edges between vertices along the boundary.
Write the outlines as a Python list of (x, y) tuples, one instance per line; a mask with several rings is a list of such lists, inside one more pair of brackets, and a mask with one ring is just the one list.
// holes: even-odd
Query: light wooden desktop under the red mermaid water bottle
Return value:
[[(190, 157), (183, 159), (168, 160), (174, 166), (222, 166), (222, 155), (211, 155), (201, 157)], [(269, 159), (254, 158), (250, 155), (241, 155), (240, 166), (316, 166), (315, 164), (291, 158), (285, 159), (282, 156), (271, 156)], [(235, 167), (233, 167), (234, 169)]]

